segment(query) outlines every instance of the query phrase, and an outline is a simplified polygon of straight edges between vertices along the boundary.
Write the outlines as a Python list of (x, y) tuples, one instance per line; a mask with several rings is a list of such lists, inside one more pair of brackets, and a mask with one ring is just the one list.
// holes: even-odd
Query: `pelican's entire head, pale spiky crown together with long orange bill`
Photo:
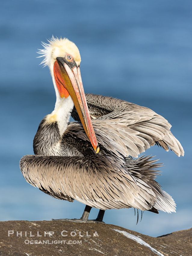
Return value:
[(39, 50), (43, 57), (41, 64), (48, 66), (53, 79), (56, 97), (64, 100), (71, 97), (96, 153), (99, 152), (98, 142), (91, 123), (85, 92), (83, 89), (79, 64), (81, 56), (77, 46), (67, 38), (52, 38), (42, 43), (44, 49)]

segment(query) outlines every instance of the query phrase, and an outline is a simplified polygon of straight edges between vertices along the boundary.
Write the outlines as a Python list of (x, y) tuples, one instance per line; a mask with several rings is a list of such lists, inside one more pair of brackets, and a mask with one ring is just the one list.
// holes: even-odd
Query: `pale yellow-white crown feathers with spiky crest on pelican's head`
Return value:
[(39, 54), (37, 58), (43, 58), (40, 64), (43, 64), (43, 67), (48, 66), (49, 69), (53, 67), (57, 57), (65, 57), (66, 54), (73, 56), (74, 61), (77, 66), (81, 62), (81, 56), (77, 46), (67, 38), (54, 38), (48, 39), (48, 43), (42, 42), (43, 49), (38, 49)]

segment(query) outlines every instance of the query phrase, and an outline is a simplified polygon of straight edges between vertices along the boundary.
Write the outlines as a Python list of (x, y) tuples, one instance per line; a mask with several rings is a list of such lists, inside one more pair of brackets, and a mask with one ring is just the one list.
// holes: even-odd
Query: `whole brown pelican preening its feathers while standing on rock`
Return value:
[[(184, 155), (168, 121), (146, 107), (85, 95), (77, 46), (54, 37), (43, 46), (56, 103), (39, 124), (35, 155), (20, 160), (26, 181), (54, 198), (86, 204), (80, 219), (61, 220), (103, 223), (106, 209), (131, 207), (175, 212), (174, 200), (155, 181), (160, 165), (152, 157), (138, 158), (155, 144)], [(69, 123), (71, 114), (77, 122)], [(88, 220), (92, 207), (100, 209), (98, 217)]]

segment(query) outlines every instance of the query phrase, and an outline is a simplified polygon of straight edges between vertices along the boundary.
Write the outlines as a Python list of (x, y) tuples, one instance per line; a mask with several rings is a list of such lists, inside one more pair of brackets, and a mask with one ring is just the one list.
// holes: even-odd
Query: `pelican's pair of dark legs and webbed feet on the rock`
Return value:
[[(82, 217), (80, 219), (57, 219), (57, 220), (65, 220), (65, 221), (72, 221), (72, 222), (78, 222), (78, 223), (102, 223), (102, 224), (105, 224), (102, 220), (103, 220), (103, 216), (104, 216), (104, 213), (101, 214), (100, 211), (104, 211), (104, 210), (99, 210), (99, 213), (98, 213), (98, 216), (97, 216), (97, 219), (95, 220), (88, 220), (88, 217), (89, 217), (89, 213), (91, 211), (91, 206), (89, 205), (86, 205), (85, 206), (85, 210), (82, 214)], [(104, 211), (105, 212), (105, 211)], [(101, 215), (101, 217), (100, 217)], [(55, 220), (55, 219), (51, 219), (51, 220)]]

